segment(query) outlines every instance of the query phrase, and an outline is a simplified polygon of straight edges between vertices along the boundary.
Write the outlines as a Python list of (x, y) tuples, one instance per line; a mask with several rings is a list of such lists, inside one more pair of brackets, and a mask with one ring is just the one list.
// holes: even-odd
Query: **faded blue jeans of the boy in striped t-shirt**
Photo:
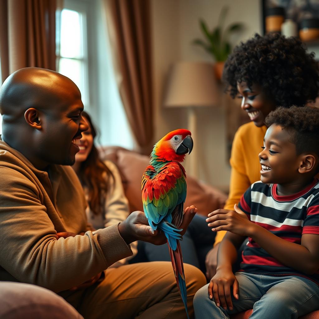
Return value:
[(319, 309), (319, 287), (310, 279), (244, 272), (235, 275), (239, 283), (239, 299), (232, 295), (233, 310), (217, 307), (214, 300), (209, 299), (206, 285), (194, 297), (197, 319), (225, 319), (251, 308), (250, 319), (286, 319)]

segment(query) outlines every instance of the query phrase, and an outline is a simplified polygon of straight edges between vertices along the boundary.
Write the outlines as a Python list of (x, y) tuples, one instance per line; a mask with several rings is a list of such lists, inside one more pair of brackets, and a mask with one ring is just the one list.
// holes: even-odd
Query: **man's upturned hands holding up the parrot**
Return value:
[[(180, 233), (181, 235), (185, 234), (196, 212), (197, 208), (193, 205), (185, 208), (182, 225), (180, 226), (180, 228), (183, 229)], [(137, 240), (147, 241), (154, 245), (163, 245), (166, 243), (164, 233), (160, 230), (153, 231), (142, 211), (133, 211), (127, 219), (119, 224), (118, 228), (120, 235), (127, 244)]]

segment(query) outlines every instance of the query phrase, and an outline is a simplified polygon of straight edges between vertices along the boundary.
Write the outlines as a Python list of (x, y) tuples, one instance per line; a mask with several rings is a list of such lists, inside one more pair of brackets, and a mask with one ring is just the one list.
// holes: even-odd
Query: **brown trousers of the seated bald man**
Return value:
[[(204, 274), (184, 264), (187, 303), (194, 318), (193, 298), (206, 284)], [(85, 319), (185, 319), (186, 313), (169, 262), (150, 262), (109, 268), (99, 284), (59, 293)]]

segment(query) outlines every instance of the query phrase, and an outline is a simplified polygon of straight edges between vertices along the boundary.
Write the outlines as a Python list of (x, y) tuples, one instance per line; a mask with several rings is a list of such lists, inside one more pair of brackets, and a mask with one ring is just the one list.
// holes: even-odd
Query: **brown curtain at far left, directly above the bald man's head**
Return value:
[(56, 0), (0, 0), (2, 82), (14, 71), (56, 69)]

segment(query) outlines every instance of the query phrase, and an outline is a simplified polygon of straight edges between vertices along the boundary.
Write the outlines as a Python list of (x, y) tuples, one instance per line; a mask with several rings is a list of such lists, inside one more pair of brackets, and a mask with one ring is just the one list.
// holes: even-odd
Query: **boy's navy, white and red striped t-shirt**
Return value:
[[(277, 184), (261, 181), (241, 197), (238, 205), (249, 220), (282, 239), (301, 244), (302, 234), (319, 234), (319, 180), (289, 196), (277, 195)], [(298, 275), (319, 284), (319, 272), (305, 275), (269, 255), (252, 238), (242, 252), (241, 271), (274, 276)]]

